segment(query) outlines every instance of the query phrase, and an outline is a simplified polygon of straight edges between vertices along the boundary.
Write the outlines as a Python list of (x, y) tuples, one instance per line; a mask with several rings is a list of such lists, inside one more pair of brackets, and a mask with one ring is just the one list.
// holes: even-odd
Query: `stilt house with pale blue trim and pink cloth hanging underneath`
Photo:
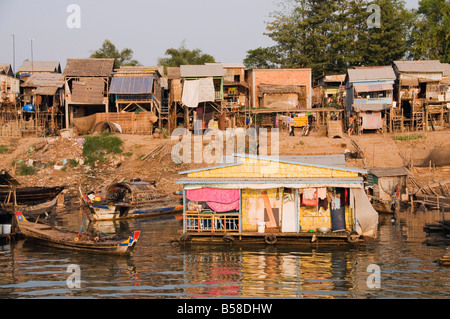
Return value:
[(393, 106), (396, 76), (391, 66), (347, 70), (346, 115), (355, 117), (355, 132), (386, 130)]

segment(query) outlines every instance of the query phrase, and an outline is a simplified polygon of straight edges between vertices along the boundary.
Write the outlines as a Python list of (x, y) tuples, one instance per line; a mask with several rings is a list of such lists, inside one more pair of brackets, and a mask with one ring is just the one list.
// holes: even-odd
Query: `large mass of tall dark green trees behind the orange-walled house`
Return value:
[[(381, 8), (380, 28), (369, 28), (369, 3)], [(351, 66), (389, 65), (405, 56), (412, 14), (400, 0), (282, 0), (267, 36), (276, 44), (247, 52), (258, 65), (312, 69), (313, 77)], [(257, 54), (258, 53), (258, 54)], [(270, 54), (268, 54), (270, 53)]]

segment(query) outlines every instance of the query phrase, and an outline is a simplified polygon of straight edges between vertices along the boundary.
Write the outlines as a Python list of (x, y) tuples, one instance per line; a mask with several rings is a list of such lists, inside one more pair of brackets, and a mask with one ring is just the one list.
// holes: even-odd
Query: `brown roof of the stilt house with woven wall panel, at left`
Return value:
[(67, 59), (64, 76), (109, 77), (114, 68), (114, 59)]

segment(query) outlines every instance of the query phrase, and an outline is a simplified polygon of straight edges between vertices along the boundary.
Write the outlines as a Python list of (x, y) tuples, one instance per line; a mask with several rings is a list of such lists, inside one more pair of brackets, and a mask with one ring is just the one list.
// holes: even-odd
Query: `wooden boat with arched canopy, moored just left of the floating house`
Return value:
[(183, 210), (181, 198), (160, 196), (152, 183), (143, 181), (112, 184), (105, 199), (91, 200), (80, 193), (89, 207), (91, 221), (154, 217)]

